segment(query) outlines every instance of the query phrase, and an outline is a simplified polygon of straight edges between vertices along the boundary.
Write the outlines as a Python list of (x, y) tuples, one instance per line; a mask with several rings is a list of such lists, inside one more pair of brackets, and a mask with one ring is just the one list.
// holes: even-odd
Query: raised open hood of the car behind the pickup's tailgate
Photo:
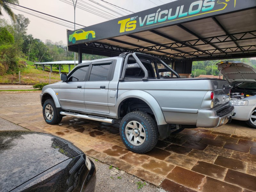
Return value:
[(240, 61), (221, 61), (216, 65), (218, 65), (220, 73), (231, 85), (256, 82), (256, 69)]

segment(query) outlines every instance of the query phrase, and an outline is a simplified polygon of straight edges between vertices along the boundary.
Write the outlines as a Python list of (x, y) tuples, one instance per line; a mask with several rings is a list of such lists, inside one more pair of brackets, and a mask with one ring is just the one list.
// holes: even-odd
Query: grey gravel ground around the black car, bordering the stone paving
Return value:
[[(0, 131), (6, 130), (27, 130), (19, 125), (9, 122), (0, 117)], [(96, 166), (97, 181), (95, 192), (120, 192), (120, 191), (132, 191), (132, 192), (165, 192), (163, 189), (157, 188), (149, 183), (145, 183), (139, 178), (130, 175), (126, 172), (121, 173), (121, 170), (117, 170), (115, 167), (109, 169), (108, 164), (95, 161), (91, 158)], [(111, 175), (111, 172), (118, 172), (116, 175)], [(117, 178), (118, 177), (118, 178)], [(119, 178), (120, 177), (120, 178)], [(141, 182), (143, 187), (138, 189), (137, 182)]]

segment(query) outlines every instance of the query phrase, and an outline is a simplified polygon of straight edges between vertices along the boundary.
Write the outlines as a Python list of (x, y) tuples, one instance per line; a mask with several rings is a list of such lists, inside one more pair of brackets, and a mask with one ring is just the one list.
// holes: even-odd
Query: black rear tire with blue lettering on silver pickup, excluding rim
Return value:
[[(137, 121), (143, 125), (145, 130), (145, 140), (139, 145), (133, 145), (126, 136), (125, 129), (131, 121)], [(134, 111), (125, 115), (120, 123), (120, 136), (126, 148), (135, 153), (147, 153), (156, 146), (158, 140), (158, 129), (156, 121), (147, 113)]]

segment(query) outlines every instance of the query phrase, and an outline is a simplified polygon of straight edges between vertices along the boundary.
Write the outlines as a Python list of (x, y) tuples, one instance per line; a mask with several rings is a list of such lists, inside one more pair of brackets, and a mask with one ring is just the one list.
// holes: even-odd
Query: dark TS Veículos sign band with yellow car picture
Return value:
[(178, 0), (79, 30), (68, 31), (68, 45), (128, 35), (255, 6), (256, 0)]

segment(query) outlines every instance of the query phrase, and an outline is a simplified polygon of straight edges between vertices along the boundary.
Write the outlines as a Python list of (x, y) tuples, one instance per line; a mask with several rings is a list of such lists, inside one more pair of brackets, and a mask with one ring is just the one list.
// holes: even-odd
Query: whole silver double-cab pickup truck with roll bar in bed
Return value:
[(118, 122), (124, 145), (146, 153), (159, 135), (166, 138), (183, 125), (226, 124), (234, 112), (228, 93), (225, 80), (180, 78), (159, 58), (122, 53), (77, 65), (60, 82), (44, 86), (40, 99), (46, 123), (58, 124), (63, 116)]

